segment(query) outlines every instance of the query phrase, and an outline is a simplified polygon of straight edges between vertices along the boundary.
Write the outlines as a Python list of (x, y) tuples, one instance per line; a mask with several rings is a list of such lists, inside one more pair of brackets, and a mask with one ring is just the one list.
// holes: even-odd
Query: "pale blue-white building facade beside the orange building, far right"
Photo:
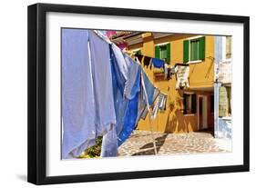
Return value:
[(230, 139), (231, 132), (231, 36), (215, 36), (214, 135)]

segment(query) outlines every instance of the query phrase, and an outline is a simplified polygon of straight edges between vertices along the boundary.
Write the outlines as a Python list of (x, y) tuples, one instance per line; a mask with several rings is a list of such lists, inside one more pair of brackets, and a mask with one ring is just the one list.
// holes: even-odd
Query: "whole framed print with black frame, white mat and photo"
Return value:
[(28, 6), (28, 182), (249, 171), (249, 17)]

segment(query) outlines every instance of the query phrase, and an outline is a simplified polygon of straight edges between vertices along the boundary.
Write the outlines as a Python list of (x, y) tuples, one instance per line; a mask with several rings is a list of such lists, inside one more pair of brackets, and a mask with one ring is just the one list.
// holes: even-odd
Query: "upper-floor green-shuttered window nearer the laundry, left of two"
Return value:
[(164, 60), (167, 64), (170, 62), (170, 44), (155, 45), (155, 57)]

